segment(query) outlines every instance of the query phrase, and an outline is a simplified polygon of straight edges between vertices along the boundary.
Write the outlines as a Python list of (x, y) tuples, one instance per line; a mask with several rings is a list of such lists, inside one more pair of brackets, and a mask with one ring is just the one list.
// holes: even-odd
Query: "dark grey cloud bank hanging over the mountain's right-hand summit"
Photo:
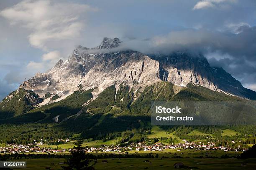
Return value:
[(168, 35), (154, 37), (152, 41), (154, 49), (163, 52), (179, 49), (219, 51), (234, 57), (256, 59), (256, 27), (246, 28), (238, 34), (209, 30), (174, 31)]

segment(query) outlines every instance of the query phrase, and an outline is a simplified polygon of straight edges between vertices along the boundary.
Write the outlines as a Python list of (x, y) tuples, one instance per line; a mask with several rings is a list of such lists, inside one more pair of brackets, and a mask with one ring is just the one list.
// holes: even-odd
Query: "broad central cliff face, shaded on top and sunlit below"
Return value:
[(159, 78), (159, 62), (140, 52), (124, 51), (103, 54), (101, 60), (84, 76), (84, 89), (97, 87), (100, 93), (105, 88), (121, 83), (134, 88), (145, 87)]

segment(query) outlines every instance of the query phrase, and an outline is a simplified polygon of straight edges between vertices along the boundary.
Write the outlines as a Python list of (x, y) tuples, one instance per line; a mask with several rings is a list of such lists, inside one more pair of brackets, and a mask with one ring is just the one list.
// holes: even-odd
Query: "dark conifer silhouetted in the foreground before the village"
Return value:
[(89, 166), (90, 159), (87, 158), (85, 148), (82, 144), (82, 140), (78, 140), (77, 143), (74, 143), (75, 146), (70, 152), (71, 158), (69, 158), (68, 164), (73, 170), (94, 170), (93, 165)]

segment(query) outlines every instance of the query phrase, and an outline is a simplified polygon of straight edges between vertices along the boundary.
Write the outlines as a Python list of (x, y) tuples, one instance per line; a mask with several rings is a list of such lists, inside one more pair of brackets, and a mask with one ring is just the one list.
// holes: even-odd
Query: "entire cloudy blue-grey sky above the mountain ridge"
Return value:
[(1, 0), (0, 99), (77, 45), (193, 50), (256, 90), (255, 0)]

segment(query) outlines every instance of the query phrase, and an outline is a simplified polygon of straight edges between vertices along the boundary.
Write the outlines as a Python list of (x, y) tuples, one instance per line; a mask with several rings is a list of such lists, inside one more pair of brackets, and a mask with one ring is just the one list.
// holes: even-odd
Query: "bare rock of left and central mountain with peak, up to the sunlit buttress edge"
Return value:
[(117, 47), (120, 43), (118, 38), (104, 38), (98, 47), (92, 49), (79, 46), (68, 60), (59, 60), (48, 73), (37, 73), (20, 88), (33, 90), (41, 97), (48, 92), (66, 96), (79, 85), (83, 89), (97, 87), (95, 94), (98, 94), (110, 85), (122, 82), (138, 88), (160, 81), (159, 62), (141, 52), (88, 53), (88, 50)]

